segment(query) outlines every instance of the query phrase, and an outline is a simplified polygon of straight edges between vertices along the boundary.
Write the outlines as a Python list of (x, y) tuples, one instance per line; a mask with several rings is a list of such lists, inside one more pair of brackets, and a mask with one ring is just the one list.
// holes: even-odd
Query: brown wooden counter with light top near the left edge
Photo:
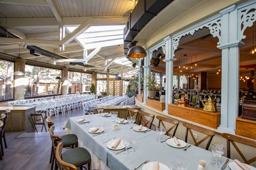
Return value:
[(33, 132), (30, 114), (35, 114), (35, 106), (0, 107), (0, 113), (10, 110), (6, 132)]

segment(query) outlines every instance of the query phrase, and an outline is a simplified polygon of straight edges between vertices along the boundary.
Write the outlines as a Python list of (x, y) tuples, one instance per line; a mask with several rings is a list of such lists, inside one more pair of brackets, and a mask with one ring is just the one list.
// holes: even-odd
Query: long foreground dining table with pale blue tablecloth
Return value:
[[(81, 118), (88, 118), (90, 123), (77, 123)], [(120, 120), (120, 118), (116, 119)], [(202, 159), (207, 162), (207, 170), (220, 169), (211, 166), (212, 153), (208, 150), (193, 145), (186, 151), (184, 148), (173, 148), (166, 142), (157, 141), (159, 134), (155, 131), (134, 131), (131, 127), (138, 126), (136, 124), (119, 124), (120, 129), (113, 130), (114, 124), (116, 122), (113, 122), (113, 118), (102, 117), (101, 114), (71, 117), (65, 124), (65, 127), (79, 138), (79, 146), (86, 148), (93, 155), (92, 159), (97, 159), (97, 161), (92, 160), (92, 169), (134, 169), (145, 160), (150, 160), (150, 162), (159, 161), (168, 167), (170, 167), (171, 162), (181, 161), (187, 165), (188, 169), (196, 170)], [(90, 128), (95, 126), (104, 127), (102, 136), (88, 132)], [(134, 142), (133, 151), (128, 154), (118, 153), (116, 155), (115, 153), (118, 151), (109, 150), (106, 146), (106, 142), (114, 138), (131, 139)], [(163, 138), (170, 137), (164, 136)], [(221, 165), (226, 159), (225, 157), (220, 158)], [(233, 160), (230, 159), (229, 162), (233, 162)], [(229, 169), (228, 166), (225, 169)]]

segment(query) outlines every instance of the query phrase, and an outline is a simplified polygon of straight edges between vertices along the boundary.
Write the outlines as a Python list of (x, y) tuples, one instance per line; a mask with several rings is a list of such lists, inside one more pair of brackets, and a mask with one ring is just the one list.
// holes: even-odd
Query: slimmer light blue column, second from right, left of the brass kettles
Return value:
[(173, 89), (172, 89), (172, 79), (173, 79), (173, 61), (176, 59), (173, 59), (173, 52), (172, 52), (172, 37), (168, 36), (167, 38), (164, 38), (164, 41), (166, 41), (166, 53), (165, 53), (165, 59), (163, 60), (166, 62), (166, 83), (165, 83), (165, 110), (164, 113), (168, 113), (168, 104), (172, 103), (172, 95), (173, 95)]

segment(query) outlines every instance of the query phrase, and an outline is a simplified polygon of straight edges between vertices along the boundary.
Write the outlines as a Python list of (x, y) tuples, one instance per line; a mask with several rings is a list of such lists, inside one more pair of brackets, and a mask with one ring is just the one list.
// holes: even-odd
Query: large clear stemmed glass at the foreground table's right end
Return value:
[(212, 157), (214, 160), (212, 161), (212, 166), (214, 167), (221, 167), (221, 162), (220, 162), (220, 157), (224, 153), (224, 145), (215, 143), (211, 145), (211, 150), (212, 150)]

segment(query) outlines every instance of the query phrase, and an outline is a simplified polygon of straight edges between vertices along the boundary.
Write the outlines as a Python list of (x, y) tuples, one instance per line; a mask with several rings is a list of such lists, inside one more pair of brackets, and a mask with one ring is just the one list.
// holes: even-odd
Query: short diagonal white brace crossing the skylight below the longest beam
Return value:
[(82, 25), (77, 27), (73, 32), (65, 36), (65, 38), (61, 39), (61, 45), (67, 45), (70, 43), (73, 39), (75, 39), (77, 36), (79, 36), (82, 32), (86, 31), (90, 27), (90, 24), (92, 23), (92, 19), (86, 20)]

